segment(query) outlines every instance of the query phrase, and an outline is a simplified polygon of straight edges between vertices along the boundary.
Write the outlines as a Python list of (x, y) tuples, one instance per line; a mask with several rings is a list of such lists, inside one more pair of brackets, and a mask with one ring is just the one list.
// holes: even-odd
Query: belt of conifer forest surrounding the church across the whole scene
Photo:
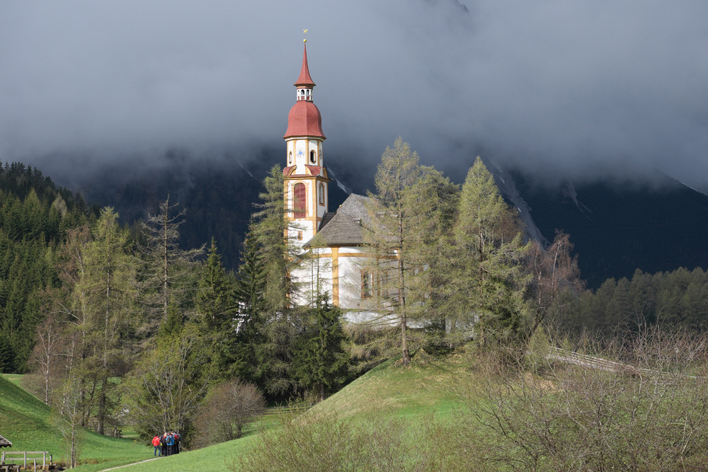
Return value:
[[(586, 289), (571, 235), (545, 248), (524, 241), (480, 159), (456, 185), (400, 138), (368, 195), (376, 257), (362, 270), (375, 281), (379, 316), (358, 325), (326, 293), (290, 303), (311, 287), (290, 279), (308, 254), (282, 236), (278, 166), (235, 272), (224, 269), (219, 241), (181, 246), (190, 216), (169, 195), (144, 221), (121, 225), (114, 209), (88, 205), (35, 168), (0, 169), (0, 370), (30, 373), (29, 388), (59, 412), (70, 443), (81, 427), (116, 434), (132, 425), (143, 437), (178, 430), (185, 444), (205, 446), (240, 437), (265, 404), (321, 401), (389, 359), (405, 366), (463, 345), (524, 357), (539, 330), (598, 339), (658, 324), (702, 330), (708, 311), (701, 268), (638, 270)], [(225, 403), (237, 406), (224, 413)]]

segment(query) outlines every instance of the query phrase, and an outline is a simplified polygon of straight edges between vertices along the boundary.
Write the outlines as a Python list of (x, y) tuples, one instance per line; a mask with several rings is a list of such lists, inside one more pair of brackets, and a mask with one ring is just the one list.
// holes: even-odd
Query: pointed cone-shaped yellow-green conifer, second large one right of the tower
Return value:
[(479, 157), (462, 185), (455, 224), (455, 277), (449, 285), (450, 312), (485, 345), (489, 335), (521, 335), (525, 315), (523, 270), (527, 245), (515, 215)]

